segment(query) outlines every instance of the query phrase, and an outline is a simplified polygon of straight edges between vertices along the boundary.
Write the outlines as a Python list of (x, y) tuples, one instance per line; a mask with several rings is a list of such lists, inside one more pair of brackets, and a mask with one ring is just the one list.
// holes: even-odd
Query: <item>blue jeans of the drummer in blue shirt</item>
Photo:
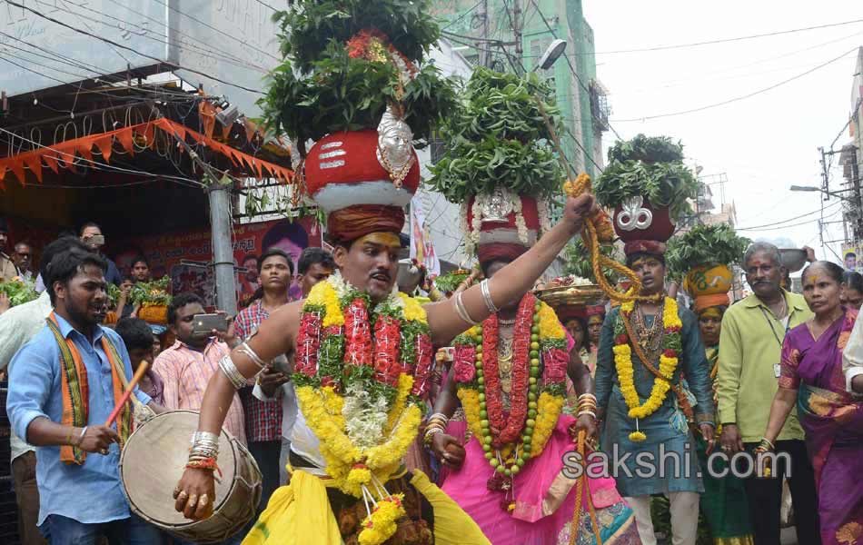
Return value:
[(104, 537), (110, 545), (161, 545), (159, 530), (132, 515), (128, 519), (84, 524), (61, 515), (48, 515), (39, 530), (50, 545), (99, 545)]

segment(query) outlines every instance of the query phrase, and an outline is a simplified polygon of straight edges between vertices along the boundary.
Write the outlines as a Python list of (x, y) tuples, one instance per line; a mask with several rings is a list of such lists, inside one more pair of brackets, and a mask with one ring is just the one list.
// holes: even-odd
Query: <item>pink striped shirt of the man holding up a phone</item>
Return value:
[[(228, 352), (228, 345), (212, 339), (203, 352), (184, 342), (164, 350), (153, 363), (153, 370), (164, 382), (164, 407), (176, 411), (200, 411), (207, 382), (219, 370), (219, 360)], [(233, 402), (224, 419), (224, 429), (245, 444), (243, 405), (233, 394)]]

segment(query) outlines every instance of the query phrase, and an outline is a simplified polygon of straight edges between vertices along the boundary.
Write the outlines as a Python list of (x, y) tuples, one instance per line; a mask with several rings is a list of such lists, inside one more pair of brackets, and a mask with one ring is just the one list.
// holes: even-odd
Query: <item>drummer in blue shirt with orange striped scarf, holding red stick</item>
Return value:
[[(132, 377), (129, 354), (103, 329), (107, 264), (72, 248), (51, 261), (46, 283), (54, 312), (12, 362), (6, 407), (15, 433), (36, 449), (39, 530), (52, 545), (159, 542), (157, 530), (129, 510), (119, 474), (132, 429), (127, 403), (105, 426)], [(163, 411), (135, 389), (138, 401)]]

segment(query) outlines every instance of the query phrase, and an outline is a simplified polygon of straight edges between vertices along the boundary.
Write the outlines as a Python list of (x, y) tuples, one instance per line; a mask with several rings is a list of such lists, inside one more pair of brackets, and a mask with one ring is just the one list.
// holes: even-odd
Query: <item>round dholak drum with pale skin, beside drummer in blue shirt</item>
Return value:
[[(219, 436), (219, 468), (213, 516), (188, 520), (174, 510), (174, 488), (183, 475), (192, 435), (194, 411), (164, 412), (129, 436), (120, 456), (120, 480), (135, 514), (184, 540), (226, 540), (252, 520), (261, 501), (261, 471), (252, 455), (227, 431)], [(217, 476), (218, 477), (218, 476)]]

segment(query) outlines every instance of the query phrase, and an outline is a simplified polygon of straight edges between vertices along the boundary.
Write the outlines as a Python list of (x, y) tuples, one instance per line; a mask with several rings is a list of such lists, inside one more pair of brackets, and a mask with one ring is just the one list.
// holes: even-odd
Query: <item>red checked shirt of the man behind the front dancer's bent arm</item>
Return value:
[[(270, 317), (270, 312), (263, 308), (263, 300), (244, 308), (233, 322), (233, 332), (237, 339), (246, 340), (254, 328)], [(261, 401), (252, 395), (252, 386), (240, 390), (245, 413), (245, 430), (249, 442), (252, 441), (282, 441), (282, 400)]]

